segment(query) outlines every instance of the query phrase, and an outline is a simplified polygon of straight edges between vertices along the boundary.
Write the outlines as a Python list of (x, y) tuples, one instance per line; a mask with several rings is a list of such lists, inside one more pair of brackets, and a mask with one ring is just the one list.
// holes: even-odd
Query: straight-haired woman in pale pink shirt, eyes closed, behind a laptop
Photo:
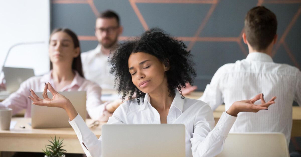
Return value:
[(122, 101), (103, 103), (100, 86), (84, 78), (76, 34), (70, 29), (54, 29), (50, 35), (48, 54), (50, 71), (21, 83), (16, 92), (0, 102), (0, 107), (12, 108), (13, 114), (26, 109), (24, 116), (31, 117), (32, 102), (28, 95), (32, 90), (42, 92), (45, 82), (50, 82), (56, 91), (86, 91), (86, 109), (89, 116), (95, 120), (107, 121)]

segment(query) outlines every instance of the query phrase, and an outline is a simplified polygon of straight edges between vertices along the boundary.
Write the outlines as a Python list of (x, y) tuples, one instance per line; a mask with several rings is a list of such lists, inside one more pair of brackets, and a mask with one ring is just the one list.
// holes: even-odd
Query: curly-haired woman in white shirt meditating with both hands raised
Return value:
[[(181, 95), (181, 88), (185, 83), (191, 84), (196, 76), (190, 59), (185, 44), (160, 29), (151, 29), (141, 38), (121, 44), (110, 61), (111, 73), (115, 74), (118, 92), (130, 100), (116, 109), (107, 124), (184, 124), (186, 156), (215, 156), (222, 151), (239, 112), (258, 112), (275, 103), (275, 97), (265, 103), (262, 94), (236, 101), (214, 127), (209, 105)], [(48, 98), (47, 89), (54, 95), (52, 99)], [(50, 83), (43, 96), (44, 99), (38, 98), (32, 92), (29, 98), (36, 105), (65, 109), (85, 153), (100, 156), (101, 137), (97, 139), (89, 130), (70, 101)], [(260, 98), (262, 103), (254, 105)]]

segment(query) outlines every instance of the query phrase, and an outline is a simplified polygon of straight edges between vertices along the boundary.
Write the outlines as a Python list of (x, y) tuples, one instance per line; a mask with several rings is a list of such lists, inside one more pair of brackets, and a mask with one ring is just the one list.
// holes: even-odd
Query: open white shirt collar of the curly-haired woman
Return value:
[[(144, 102), (140, 105), (139, 111), (144, 110), (147, 105), (151, 105), (151, 98), (148, 93), (144, 96)], [(173, 99), (170, 108), (176, 107), (181, 113), (183, 112), (184, 99), (182, 99), (182, 95), (179, 93), (178, 89), (175, 89), (175, 98)]]

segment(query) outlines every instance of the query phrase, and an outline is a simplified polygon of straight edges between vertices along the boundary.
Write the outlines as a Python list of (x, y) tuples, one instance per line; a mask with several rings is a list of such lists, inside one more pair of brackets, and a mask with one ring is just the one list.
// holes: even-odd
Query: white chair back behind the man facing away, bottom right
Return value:
[(289, 157), (284, 134), (248, 132), (230, 133), (217, 157)]

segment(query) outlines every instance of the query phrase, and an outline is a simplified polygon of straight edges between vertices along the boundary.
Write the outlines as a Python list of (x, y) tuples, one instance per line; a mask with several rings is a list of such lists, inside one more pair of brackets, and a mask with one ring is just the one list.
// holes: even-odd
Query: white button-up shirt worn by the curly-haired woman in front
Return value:
[[(213, 113), (206, 103), (189, 98), (182, 99), (176, 91), (167, 116), (167, 124), (185, 125), (186, 157), (210, 157), (222, 151), (225, 138), (235, 119), (236, 117), (224, 112), (214, 128)], [(160, 115), (151, 106), (150, 97), (146, 94), (144, 102), (140, 105), (137, 99), (121, 104), (107, 124), (160, 124)], [(97, 139), (80, 115), (70, 121), (70, 125), (87, 156), (101, 156), (101, 137)]]

